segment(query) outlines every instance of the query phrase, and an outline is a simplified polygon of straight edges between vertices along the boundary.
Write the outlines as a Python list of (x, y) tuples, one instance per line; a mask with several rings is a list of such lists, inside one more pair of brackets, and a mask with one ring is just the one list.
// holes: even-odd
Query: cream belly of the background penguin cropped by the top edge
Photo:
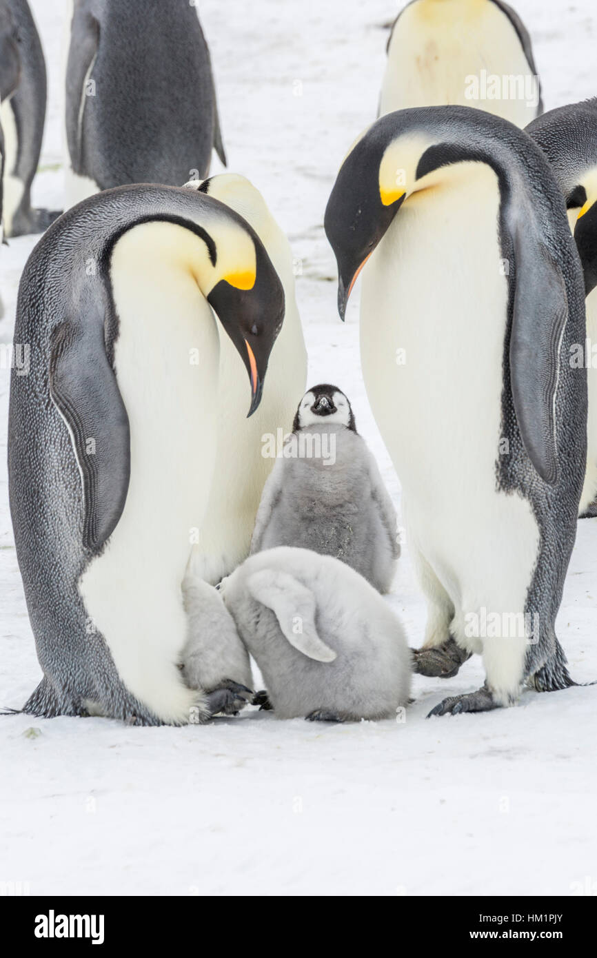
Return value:
[(529, 34), (502, 0), (413, 0), (396, 18), (379, 114), (443, 104), (476, 106), (517, 126), (542, 111)]

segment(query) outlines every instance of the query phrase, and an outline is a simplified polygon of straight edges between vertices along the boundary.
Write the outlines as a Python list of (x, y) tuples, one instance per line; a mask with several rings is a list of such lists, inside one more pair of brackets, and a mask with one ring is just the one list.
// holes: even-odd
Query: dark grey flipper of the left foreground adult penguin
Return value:
[(98, 552), (123, 513), (130, 478), (128, 416), (105, 354), (103, 316), (54, 331), (50, 392), (80, 468), (83, 545)]

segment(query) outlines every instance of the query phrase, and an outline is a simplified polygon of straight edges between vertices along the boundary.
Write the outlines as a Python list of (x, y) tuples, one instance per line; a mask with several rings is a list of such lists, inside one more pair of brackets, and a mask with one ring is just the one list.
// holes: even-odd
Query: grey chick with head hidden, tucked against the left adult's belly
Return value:
[[(230, 613), (218, 590), (187, 576), (184, 604), (188, 638), (181, 654), (182, 676), (200, 689), (211, 715), (236, 715), (253, 696), (251, 665)], [(222, 681), (221, 676), (226, 675)]]

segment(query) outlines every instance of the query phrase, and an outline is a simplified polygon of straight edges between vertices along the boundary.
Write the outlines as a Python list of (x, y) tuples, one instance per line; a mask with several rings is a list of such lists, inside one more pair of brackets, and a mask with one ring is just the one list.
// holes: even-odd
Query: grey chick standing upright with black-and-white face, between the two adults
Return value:
[(335, 386), (314, 386), (265, 483), (251, 554), (279, 545), (311, 549), (341, 559), (387, 592), (400, 556), (396, 528), (349, 400)]

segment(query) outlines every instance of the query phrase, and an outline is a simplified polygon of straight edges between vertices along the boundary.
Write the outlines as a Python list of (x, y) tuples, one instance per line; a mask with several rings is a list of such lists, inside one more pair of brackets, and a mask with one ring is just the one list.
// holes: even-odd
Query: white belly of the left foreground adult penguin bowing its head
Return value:
[(151, 223), (114, 248), (130, 485), (113, 535), (80, 580), (126, 687), (168, 721), (188, 721), (195, 697), (177, 669), (187, 632), (181, 586), (217, 447), (218, 332), (188, 268), (202, 245), (181, 227)]

